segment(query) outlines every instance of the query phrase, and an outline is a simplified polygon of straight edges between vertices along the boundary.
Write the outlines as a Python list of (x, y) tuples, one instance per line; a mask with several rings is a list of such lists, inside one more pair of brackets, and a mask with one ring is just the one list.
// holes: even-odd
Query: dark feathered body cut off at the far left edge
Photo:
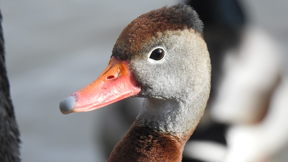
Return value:
[(5, 64), (4, 38), (0, 13), (0, 161), (21, 161), (20, 132), (10, 96), (10, 86)]

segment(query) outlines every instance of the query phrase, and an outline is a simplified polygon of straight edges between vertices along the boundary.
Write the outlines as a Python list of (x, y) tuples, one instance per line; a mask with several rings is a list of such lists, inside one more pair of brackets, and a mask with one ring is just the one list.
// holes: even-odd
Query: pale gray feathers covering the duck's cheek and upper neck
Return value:
[(187, 133), (198, 124), (209, 97), (209, 53), (202, 36), (188, 29), (163, 33), (160, 39), (166, 51), (162, 62), (149, 61), (147, 53), (131, 60), (143, 85), (141, 95), (148, 98), (137, 118), (159, 131)]

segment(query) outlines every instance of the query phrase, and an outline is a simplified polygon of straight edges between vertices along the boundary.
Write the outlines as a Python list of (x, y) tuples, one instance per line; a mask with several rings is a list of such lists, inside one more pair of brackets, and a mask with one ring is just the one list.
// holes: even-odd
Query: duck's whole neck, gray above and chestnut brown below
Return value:
[(137, 119), (108, 161), (181, 161), (184, 145), (199, 121), (188, 115), (193, 110), (190, 106), (173, 100), (145, 99)]

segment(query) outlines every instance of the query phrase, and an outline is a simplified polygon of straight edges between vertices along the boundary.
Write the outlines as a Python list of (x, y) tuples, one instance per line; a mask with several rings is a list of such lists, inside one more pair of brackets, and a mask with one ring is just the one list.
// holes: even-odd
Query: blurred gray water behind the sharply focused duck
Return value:
[[(59, 102), (92, 82), (108, 64), (122, 29), (134, 18), (178, 1), (0, 2), (12, 101), (21, 131), (21, 158), (105, 161), (97, 135), (105, 109), (61, 114)], [(288, 1), (243, 0), (253, 23), (288, 52)], [(102, 118), (103, 119), (103, 118)], [(110, 120), (107, 118), (106, 120)]]

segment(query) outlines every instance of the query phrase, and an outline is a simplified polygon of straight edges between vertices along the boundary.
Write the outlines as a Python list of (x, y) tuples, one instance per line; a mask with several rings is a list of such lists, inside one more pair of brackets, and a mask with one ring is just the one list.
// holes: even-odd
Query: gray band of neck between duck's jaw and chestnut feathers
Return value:
[(181, 136), (194, 131), (205, 106), (175, 99), (145, 98), (137, 119), (156, 131)]

